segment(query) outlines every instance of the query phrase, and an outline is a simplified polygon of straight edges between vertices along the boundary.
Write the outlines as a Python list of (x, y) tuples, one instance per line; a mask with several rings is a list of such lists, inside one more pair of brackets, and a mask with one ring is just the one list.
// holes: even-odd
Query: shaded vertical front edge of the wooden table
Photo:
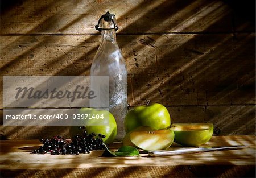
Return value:
[(2, 177), (255, 177), (254, 165), (178, 165), (178, 166), (129, 166), (104, 168), (65, 168), (65, 169), (16, 169), (2, 170)]

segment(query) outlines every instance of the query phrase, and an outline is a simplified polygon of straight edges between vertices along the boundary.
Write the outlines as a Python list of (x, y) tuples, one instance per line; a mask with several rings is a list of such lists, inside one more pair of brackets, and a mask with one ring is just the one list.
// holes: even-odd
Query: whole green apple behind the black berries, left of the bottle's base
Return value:
[[(105, 144), (113, 143), (115, 136), (117, 135), (117, 123), (115, 122), (114, 116), (109, 113), (109, 111), (82, 108), (80, 109), (79, 114), (90, 114), (91, 117), (97, 114), (99, 116), (103, 115), (103, 118), (105, 119), (81, 119), (80, 126), (86, 126), (86, 131), (88, 134), (101, 133), (102, 135), (105, 135), (106, 138), (102, 139)], [(69, 128), (69, 134), (73, 140), (77, 134), (82, 134), (82, 130), (79, 129), (79, 126), (71, 126)]]

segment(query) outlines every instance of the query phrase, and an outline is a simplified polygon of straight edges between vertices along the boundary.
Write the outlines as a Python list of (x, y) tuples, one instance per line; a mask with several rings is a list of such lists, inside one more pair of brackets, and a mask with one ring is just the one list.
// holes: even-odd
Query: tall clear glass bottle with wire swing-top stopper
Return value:
[(125, 136), (127, 113), (127, 68), (116, 41), (115, 15), (107, 12), (95, 26), (101, 32), (101, 44), (92, 62), (91, 76), (109, 76), (109, 111), (117, 122), (117, 140)]

